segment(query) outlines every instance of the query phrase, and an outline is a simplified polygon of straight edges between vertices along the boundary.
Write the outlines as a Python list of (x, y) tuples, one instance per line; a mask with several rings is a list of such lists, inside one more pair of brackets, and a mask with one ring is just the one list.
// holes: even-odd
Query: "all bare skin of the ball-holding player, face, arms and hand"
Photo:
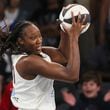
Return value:
[[(16, 69), (18, 73), (28, 80), (40, 74), (54, 80), (72, 83), (77, 81), (80, 70), (78, 38), (83, 29), (82, 24), (84, 20), (80, 22), (79, 15), (77, 22), (75, 22), (73, 17), (70, 29), (64, 26), (66, 33), (61, 32), (61, 41), (57, 49), (42, 47), (42, 36), (38, 27), (35, 25), (27, 26), (23, 30), (23, 37), (19, 38), (17, 43), (31, 54), (17, 62)], [(48, 54), (52, 62), (45, 61), (41, 56), (37, 55), (41, 51)], [(62, 64), (66, 64), (66, 66)]]

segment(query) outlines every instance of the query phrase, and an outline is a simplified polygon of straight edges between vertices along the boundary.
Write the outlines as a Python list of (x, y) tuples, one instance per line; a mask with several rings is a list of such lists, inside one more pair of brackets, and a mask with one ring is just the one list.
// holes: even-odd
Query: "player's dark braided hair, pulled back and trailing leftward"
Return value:
[(6, 51), (10, 54), (22, 53), (16, 42), (19, 37), (23, 36), (24, 28), (29, 25), (32, 25), (29, 21), (19, 21), (16, 23), (12, 32), (2, 32), (2, 30), (0, 30), (0, 56)]

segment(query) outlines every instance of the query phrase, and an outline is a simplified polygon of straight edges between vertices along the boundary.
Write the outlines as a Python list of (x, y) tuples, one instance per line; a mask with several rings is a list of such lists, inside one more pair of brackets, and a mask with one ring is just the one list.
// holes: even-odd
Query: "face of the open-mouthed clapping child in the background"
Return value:
[(87, 98), (94, 98), (100, 91), (100, 86), (94, 81), (84, 82), (82, 84), (82, 92)]

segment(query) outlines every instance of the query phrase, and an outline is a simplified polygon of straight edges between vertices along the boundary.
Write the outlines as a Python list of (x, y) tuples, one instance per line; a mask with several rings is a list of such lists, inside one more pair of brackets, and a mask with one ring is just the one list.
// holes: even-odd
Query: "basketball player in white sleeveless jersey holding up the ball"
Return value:
[(81, 22), (79, 15), (77, 21), (74, 17), (72, 21), (70, 29), (64, 25), (58, 48), (42, 47), (40, 30), (28, 21), (16, 24), (1, 47), (1, 53), (6, 49), (12, 52), (11, 100), (18, 110), (55, 110), (53, 81), (78, 80), (78, 39), (85, 18)]

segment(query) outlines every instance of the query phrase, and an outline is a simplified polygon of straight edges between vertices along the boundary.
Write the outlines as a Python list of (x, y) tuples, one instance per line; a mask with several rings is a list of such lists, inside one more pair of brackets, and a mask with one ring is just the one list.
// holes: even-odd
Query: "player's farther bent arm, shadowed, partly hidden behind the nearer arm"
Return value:
[(66, 65), (69, 55), (69, 37), (66, 32), (61, 31), (61, 40), (58, 48), (43, 46), (42, 51), (48, 54), (52, 61)]

